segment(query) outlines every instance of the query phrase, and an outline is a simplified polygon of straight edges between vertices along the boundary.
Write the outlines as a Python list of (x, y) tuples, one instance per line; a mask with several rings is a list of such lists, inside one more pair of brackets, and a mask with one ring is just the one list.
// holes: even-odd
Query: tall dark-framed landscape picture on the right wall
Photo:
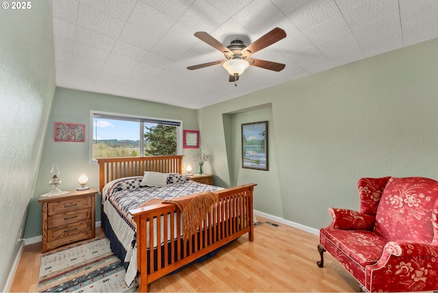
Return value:
[(242, 124), (242, 168), (268, 170), (268, 121)]

